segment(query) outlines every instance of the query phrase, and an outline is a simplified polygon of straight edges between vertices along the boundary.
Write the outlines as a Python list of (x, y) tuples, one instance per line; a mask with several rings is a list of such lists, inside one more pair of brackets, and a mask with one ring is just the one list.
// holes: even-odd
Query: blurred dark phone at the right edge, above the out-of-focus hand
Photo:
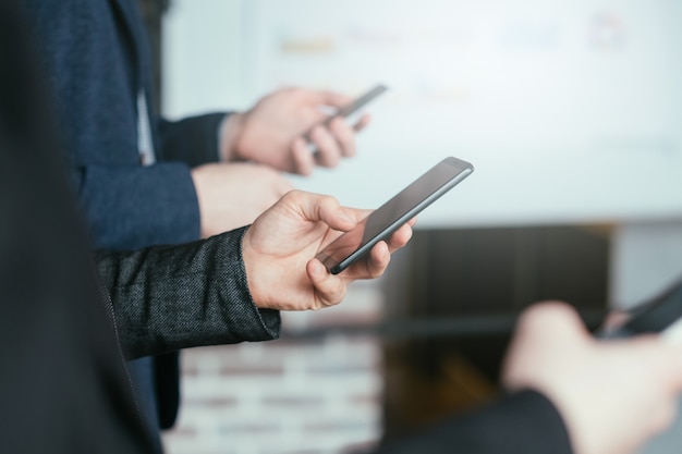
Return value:
[(626, 311), (628, 321), (612, 330), (601, 330), (598, 338), (630, 338), (661, 333), (663, 339), (682, 343), (682, 279), (663, 292)]

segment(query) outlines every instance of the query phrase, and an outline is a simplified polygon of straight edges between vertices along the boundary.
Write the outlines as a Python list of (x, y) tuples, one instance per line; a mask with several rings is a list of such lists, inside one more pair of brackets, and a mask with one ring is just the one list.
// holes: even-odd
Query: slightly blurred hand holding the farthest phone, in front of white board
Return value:
[[(333, 93), (303, 88), (283, 88), (260, 99), (251, 110), (235, 113), (223, 123), (220, 150), (223, 160), (255, 161), (290, 173), (308, 175), (315, 164), (336, 167), (342, 157), (355, 155), (355, 132), (369, 122), (361, 118), (356, 125), (334, 119), (328, 126), (318, 124), (328, 118), (322, 108), (341, 108), (352, 98)], [(313, 156), (304, 135), (319, 154)]]

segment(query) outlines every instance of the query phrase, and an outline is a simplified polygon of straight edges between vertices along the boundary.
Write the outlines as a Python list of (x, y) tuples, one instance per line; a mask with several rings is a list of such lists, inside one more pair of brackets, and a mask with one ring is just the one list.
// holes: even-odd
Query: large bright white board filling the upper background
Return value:
[(474, 174), (419, 226), (682, 218), (682, 2), (173, 4), (169, 114), (243, 109), (288, 85), (391, 88), (358, 155), (292, 177), (303, 189), (375, 208), (455, 156)]

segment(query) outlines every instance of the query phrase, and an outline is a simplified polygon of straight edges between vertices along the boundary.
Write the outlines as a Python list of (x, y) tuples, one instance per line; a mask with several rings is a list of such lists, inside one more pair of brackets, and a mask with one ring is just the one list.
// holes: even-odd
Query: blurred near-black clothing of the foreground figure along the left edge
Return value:
[(148, 452), (23, 26), (0, 2), (1, 451)]

